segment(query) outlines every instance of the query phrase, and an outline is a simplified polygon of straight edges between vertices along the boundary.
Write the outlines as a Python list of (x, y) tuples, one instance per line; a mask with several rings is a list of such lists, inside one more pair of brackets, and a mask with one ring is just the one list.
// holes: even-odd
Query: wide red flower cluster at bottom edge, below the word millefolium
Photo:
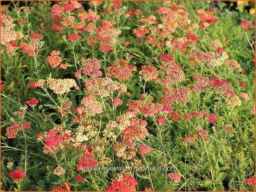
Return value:
[(113, 181), (109, 187), (106, 187), (106, 191), (136, 191), (138, 182), (136, 179), (129, 175), (123, 175), (122, 181)]

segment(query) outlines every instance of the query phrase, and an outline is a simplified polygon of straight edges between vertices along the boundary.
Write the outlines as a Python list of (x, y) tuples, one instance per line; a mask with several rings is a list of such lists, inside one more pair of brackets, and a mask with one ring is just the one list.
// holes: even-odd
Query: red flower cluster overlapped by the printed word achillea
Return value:
[(85, 153), (78, 160), (77, 171), (90, 171), (92, 167), (97, 167), (98, 162), (95, 160), (93, 154)]

